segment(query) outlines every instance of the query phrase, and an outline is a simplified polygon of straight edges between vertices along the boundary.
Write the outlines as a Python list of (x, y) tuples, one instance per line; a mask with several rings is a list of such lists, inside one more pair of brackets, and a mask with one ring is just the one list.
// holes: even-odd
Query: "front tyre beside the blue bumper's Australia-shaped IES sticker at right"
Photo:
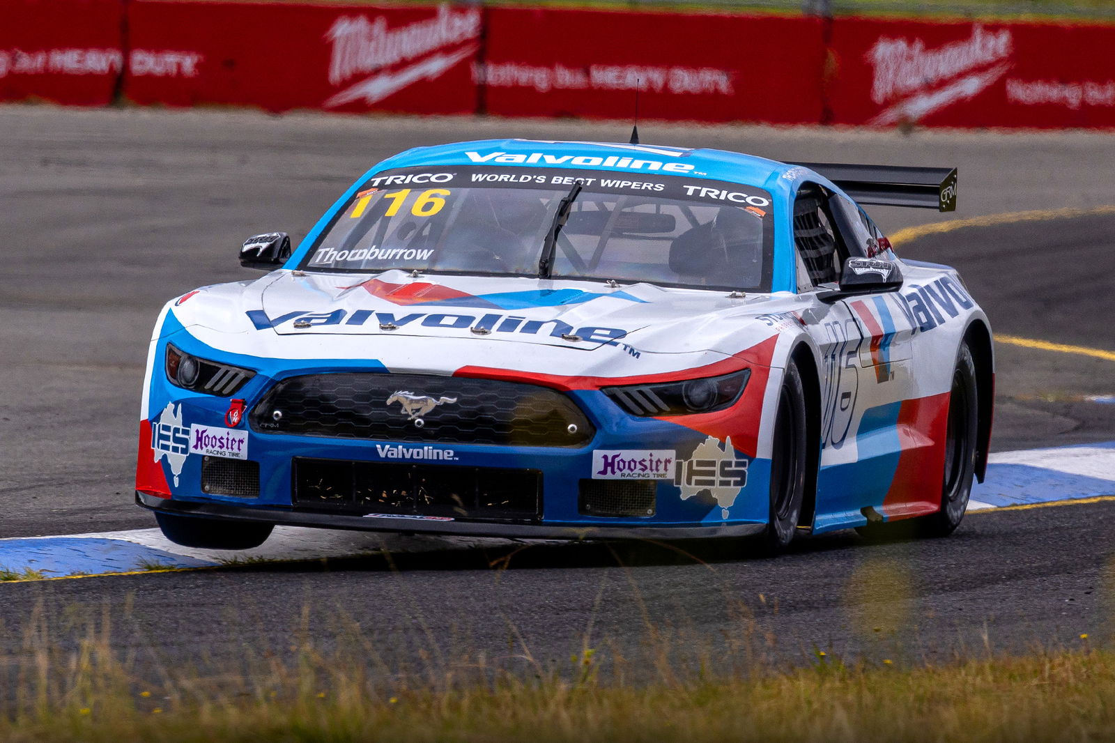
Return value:
[(758, 538), (765, 554), (783, 552), (797, 533), (808, 461), (805, 415), (805, 387), (797, 365), (791, 361), (778, 390), (770, 442), (770, 515)]

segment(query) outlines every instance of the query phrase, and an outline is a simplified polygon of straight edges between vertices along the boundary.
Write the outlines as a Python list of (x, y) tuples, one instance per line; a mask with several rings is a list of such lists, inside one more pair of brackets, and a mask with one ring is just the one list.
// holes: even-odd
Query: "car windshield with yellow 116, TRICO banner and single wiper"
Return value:
[(558, 223), (552, 278), (769, 291), (770, 203), (755, 186), (687, 176), (386, 171), (357, 190), (299, 268), (539, 276)]

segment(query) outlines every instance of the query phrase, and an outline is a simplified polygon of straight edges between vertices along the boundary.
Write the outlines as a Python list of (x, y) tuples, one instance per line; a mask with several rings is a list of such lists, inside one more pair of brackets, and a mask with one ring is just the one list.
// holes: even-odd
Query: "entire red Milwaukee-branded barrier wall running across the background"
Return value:
[(0, 7), (0, 100), (106, 105), (119, 88), (169, 106), (630, 119), (638, 87), (652, 119), (1115, 127), (1115, 26), (244, 0)]

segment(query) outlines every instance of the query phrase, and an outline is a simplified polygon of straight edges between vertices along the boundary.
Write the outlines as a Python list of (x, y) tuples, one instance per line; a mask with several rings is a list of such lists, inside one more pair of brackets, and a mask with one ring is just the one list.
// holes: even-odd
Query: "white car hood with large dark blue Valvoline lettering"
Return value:
[[(556, 358), (551, 354), (602, 347), (636, 358), (646, 353), (731, 355), (775, 335), (784, 321), (776, 313), (799, 307), (799, 300), (788, 293), (743, 297), (649, 283), (413, 277), (395, 270), (372, 277), (281, 270), (196, 293), (174, 307), (184, 327), (246, 332), (258, 339), (249, 341), (250, 346), (266, 347), (273, 354), (292, 353), (294, 346), (287, 351), (275, 346), (289, 339), (289, 344), (298, 341), (297, 348), (304, 348), (300, 353), (306, 355), (317, 348), (338, 357), (336, 344), (343, 336), (378, 336), (377, 351), (381, 353), (386, 353), (381, 342), (387, 338), (396, 338), (398, 348), (409, 338), (408, 349), (424, 338), (446, 339), (454, 349), (458, 342), (483, 346), (501, 358), (514, 357), (508, 344), (552, 349), (534, 358), (523, 356), (522, 366)], [(329, 339), (333, 340), (322, 345)], [(438, 347), (450, 348), (445, 344), (432, 348)]]

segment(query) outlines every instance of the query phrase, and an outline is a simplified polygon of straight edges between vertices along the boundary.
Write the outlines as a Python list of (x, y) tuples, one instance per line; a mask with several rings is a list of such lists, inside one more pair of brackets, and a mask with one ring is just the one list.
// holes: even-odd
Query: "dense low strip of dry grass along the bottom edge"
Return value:
[[(588, 659), (591, 664), (592, 659)], [(151, 691), (118, 674), (0, 721), (38, 741), (1108, 741), (1115, 656), (1061, 652), (941, 667), (813, 667), (739, 676), (605, 683), (496, 676), (487, 683), (371, 683), (350, 664), (324, 675), (217, 679)]]

